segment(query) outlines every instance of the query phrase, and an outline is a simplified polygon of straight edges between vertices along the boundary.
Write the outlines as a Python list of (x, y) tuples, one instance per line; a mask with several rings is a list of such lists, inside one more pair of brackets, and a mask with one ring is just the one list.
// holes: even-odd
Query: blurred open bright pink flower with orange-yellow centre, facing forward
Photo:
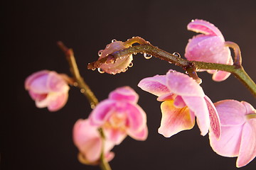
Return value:
[(146, 113), (137, 105), (138, 94), (129, 86), (112, 91), (90, 114), (92, 125), (102, 128), (108, 140), (119, 145), (129, 135), (146, 140)]

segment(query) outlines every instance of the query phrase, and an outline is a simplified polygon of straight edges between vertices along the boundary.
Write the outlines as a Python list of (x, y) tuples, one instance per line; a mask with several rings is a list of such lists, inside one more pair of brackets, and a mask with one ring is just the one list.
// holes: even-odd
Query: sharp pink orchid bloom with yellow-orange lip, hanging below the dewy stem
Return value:
[(188, 75), (169, 70), (166, 75), (142, 79), (138, 86), (158, 96), (158, 101), (164, 101), (161, 103), (159, 128), (159, 133), (164, 137), (193, 128), (195, 117), (201, 135), (206, 135), (211, 128), (215, 136), (220, 137), (219, 118), (213, 103)]

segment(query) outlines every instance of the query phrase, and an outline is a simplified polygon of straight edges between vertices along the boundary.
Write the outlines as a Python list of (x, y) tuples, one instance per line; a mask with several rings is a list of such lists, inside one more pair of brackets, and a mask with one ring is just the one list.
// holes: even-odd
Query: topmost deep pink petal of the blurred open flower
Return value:
[(138, 94), (129, 86), (121, 87), (112, 91), (109, 98), (116, 101), (130, 101), (132, 103), (137, 103), (139, 100)]

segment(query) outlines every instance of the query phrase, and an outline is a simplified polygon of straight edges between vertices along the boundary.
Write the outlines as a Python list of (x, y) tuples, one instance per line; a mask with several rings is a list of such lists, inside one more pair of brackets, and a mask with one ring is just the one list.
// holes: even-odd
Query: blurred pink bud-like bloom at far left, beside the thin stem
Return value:
[(68, 101), (69, 86), (65, 74), (42, 70), (31, 74), (25, 81), (25, 89), (36, 101), (38, 108), (48, 107), (49, 111), (58, 111)]

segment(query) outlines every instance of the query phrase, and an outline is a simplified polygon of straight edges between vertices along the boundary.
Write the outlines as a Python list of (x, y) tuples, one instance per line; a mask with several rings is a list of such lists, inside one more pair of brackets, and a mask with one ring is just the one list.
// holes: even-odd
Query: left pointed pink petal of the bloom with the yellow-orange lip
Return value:
[(154, 77), (148, 77), (139, 81), (138, 86), (144, 90), (148, 91), (151, 94), (156, 96), (162, 96), (164, 94), (170, 93), (169, 89), (166, 86), (166, 76), (165, 75), (156, 75)]

